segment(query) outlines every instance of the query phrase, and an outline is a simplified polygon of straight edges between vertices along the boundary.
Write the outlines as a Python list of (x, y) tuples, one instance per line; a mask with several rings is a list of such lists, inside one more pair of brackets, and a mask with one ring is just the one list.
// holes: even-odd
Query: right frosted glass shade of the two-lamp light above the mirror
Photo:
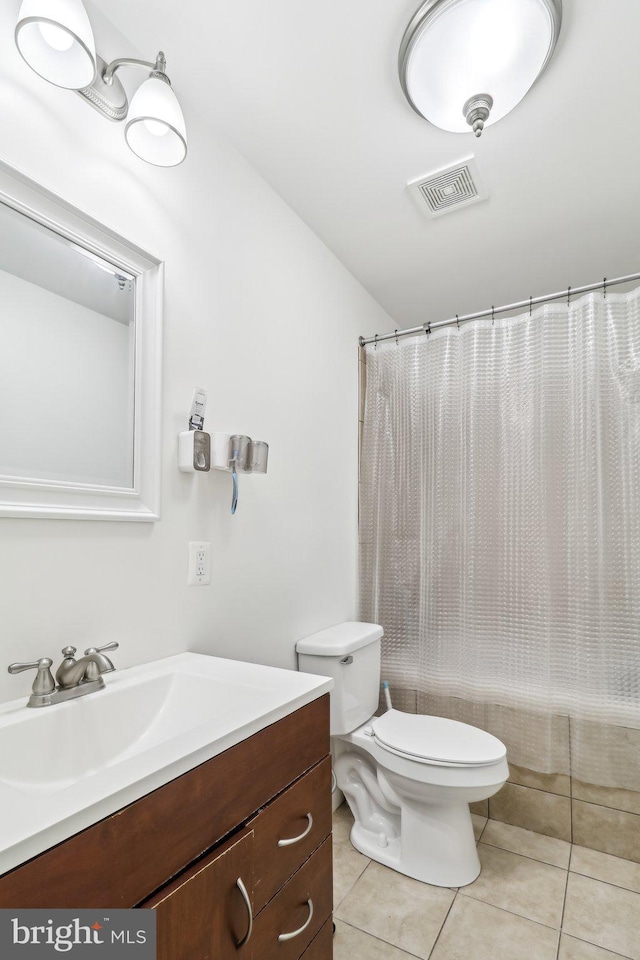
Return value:
[(149, 77), (131, 99), (124, 135), (136, 156), (175, 167), (187, 155), (187, 132), (178, 99), (164, 80)]

